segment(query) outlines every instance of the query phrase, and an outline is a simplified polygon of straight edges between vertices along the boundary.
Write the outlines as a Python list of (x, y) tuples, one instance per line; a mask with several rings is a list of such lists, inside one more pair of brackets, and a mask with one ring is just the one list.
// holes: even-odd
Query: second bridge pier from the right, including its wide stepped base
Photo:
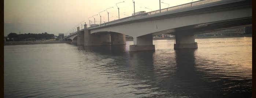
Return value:
[(152, 34), (143, 35), (140, 37), (133, 37), (133, 45), (130, 45), (130, 51), (155, 51), (155, 45), (153, 45)]

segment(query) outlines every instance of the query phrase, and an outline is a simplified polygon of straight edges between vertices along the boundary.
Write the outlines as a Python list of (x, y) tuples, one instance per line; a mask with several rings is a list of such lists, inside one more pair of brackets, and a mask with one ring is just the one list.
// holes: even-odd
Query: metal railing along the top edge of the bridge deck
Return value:
[[(186, 3), (186, 4), (181, 4), (181, 5), (169, 7), (169, 8), (164, 8), (164, 9), (161, 9), (161, 12), (173, 11), (173, 10), (178, 10), (178, 9), (182, 9), (182, 8), (188, 8), (188, 7), (192, 7), (192, 6), (212, 3), (212, 2), (216, 2), (216, 1), (222, 1), (222, 0), (199, 0), (199, 1), (194, 1), (194, 2), (191, 2), (191, 3)], [(113, 20), (113, 21), (110, 21), (110, 22), (100, 24), (99, 26), (92, 26), (92, 27), (88, 27), (88, 28), (100, 27), (100, 26), (104, 26), (104, 25), (113, 24), (113, 23), (119, 22), (121, 20), (132, 19), (132, 18), (136, 18), (136, 17), (159, 14), (159, 13), (160, 13), (160, 10), (146, 12), (144, 14), (128, 16), (128, 17), (125, 17), (125, 18), (121, 18), (121, 19), (118, 19), (118, 20)]]

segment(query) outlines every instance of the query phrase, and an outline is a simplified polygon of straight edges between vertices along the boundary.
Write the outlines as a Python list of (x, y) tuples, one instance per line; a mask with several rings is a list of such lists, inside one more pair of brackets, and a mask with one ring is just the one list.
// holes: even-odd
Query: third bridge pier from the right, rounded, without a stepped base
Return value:
[(111, 45), (125, 45), (125, 34), (111, 33)]

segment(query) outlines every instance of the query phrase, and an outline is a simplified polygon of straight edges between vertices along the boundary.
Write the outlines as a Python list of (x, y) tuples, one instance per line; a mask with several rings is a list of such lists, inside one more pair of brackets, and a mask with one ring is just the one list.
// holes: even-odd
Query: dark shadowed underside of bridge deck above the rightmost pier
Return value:
[(175, 29), (168, 29), (168, 30), (155, 32), (152, 35), (161, 35), (161, 34), (177, 35), (178, 33), (193, 33), (197, 35), (197, 34), (213, 32), (213, 31), (227, 30), (227, 29), (246, 27), (246, 26), (252, 26), (252, 17), (225, 20), (225, 21), (212, 22), (212, 23), (194, 24), (190, 26), (183, 26)]

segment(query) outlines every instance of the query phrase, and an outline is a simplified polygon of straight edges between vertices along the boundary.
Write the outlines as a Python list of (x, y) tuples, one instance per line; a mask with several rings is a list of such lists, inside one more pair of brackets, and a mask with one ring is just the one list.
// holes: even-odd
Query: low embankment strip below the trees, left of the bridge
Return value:
[(29, 45), (29, 44), (57, 44), (70, 43), (65, 41), (20, 41), (20, 42), (4, 42), (4, 45)]

